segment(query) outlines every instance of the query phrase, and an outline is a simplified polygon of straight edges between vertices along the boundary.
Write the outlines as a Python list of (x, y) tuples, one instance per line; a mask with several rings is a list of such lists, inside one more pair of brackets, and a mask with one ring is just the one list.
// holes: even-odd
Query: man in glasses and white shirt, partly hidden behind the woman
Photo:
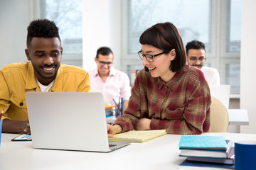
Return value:
[(186, 57), (189, 65), (202, 70), (209, 85), (220, 85), (218, 69), (203, 66), (206, 62), (206, 47), (203, 42), (198, 40), (188, 42), (186, 45)]

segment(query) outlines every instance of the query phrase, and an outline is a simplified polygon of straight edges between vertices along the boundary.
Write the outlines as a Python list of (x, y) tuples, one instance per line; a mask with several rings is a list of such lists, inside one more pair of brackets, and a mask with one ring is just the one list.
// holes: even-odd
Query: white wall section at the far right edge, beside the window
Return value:
[(247, 109), (250, 121), (249, 126), (240, 128), (243, 133), (256, 133), (255, 8), (255, 0), (242, 0), (240, 108)]

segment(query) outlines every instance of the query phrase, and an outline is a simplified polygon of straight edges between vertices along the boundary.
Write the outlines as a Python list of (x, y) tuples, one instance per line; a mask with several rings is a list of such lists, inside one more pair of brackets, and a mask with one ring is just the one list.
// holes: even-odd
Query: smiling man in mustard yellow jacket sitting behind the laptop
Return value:
[(26, 91), (90, 91), (88, 73), (60, 64), (62, 52), (58, 27), (53, 21), (30, 23), (25, 50), (29, 62), (9, 64), (0, 70), (2, 132), (30, 133)]

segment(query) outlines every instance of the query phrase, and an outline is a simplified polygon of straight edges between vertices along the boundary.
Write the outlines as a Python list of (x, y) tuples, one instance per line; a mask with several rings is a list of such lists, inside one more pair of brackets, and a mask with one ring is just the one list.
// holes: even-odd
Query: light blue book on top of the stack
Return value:
[(218, 149), (226, 150), (225, 137), (203, 136), (203, 135), (182, 135), (178, 143), (180, 149)]

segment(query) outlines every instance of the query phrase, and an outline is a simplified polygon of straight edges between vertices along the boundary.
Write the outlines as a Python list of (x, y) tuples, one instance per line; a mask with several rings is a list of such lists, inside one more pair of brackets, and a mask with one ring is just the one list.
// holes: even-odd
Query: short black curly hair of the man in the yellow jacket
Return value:
[(58, 33), (58, 27), (53, 21), (48, 19), (38, 19), (31, 21), (28, 26), (27, 35), (27, 47), (31, 45), (32, 38), (58, 38), (60, 40), (60, 35)]

